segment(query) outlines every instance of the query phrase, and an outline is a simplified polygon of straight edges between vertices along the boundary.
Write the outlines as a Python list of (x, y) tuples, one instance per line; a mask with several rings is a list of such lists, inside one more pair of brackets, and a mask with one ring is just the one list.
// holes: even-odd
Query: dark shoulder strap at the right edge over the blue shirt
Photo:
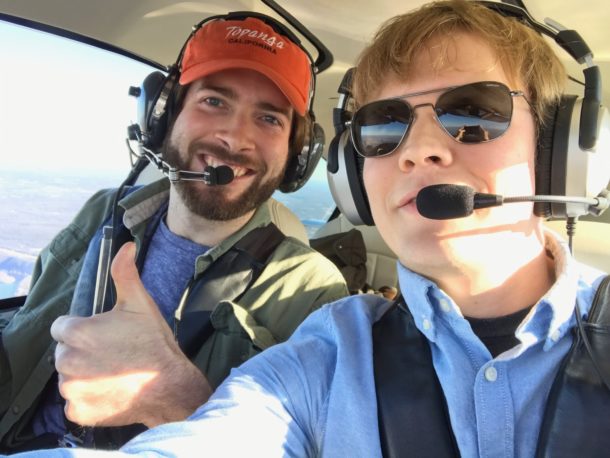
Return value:
[[(578, 329), (578, 328), (577, 328)], [(610, 451), (610, 276), (553, 382), (538, 457), (602, 457)]]

